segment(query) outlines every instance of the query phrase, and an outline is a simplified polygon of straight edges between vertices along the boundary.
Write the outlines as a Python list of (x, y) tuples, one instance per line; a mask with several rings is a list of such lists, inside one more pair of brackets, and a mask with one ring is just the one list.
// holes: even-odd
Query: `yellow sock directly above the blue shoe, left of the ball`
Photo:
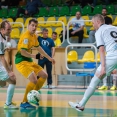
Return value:
[(33, 90), (34, 87), (35, 87), (35, 84), (32, 83), (32, 82), (29, 82), (27, 84), (26, 91), (25, 91), (25, 94), (24, 94), (23, 102), (28, 102), (28, 100), (27, 100), (27, 94), (28, 94), (28, 92), (30, 92), (31, 90)]

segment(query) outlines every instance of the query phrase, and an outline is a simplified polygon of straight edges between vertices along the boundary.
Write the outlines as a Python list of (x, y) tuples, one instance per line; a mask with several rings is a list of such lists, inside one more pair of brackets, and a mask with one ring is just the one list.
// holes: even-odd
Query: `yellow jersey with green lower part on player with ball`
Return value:
[(35, 34), (30, 34), (29, 31), (26, 31), (24, 34), (22, 34), (17, 45), (18, 52), (16, 54), (15, 64), (18, 64), (22, 61), (32, 62), (32, 58), (28, 58), (21, 55), (20, 51), (21, 49), (25, 49), (27, 50), (27, 52), (31, 53), (32, 52), (31, 49), (33, 47), (38, 47), (38, 46), (39, 46), (39, 42)]

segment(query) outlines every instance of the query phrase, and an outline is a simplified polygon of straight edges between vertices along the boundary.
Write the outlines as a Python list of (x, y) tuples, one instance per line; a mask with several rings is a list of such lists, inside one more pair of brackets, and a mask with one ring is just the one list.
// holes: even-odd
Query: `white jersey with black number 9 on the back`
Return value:
[(103, 24), (95, 33), (97, 47), (104, 46), (107, 56), (117, 56), (117, 27)]

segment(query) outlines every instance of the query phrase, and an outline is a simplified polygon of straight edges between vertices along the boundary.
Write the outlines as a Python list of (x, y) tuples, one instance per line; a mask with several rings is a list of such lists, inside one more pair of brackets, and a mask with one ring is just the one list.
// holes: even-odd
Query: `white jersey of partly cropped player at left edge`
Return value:
[(0, 33), (0, 55), (4, 55), (6, 43), (7, 43), (6, 39)]

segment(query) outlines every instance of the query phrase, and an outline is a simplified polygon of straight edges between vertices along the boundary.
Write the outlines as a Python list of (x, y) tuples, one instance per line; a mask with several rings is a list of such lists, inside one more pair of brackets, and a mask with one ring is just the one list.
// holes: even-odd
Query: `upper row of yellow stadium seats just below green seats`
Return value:
[[(113, 16), (112, 16), (112, 15), (108, 15), (108, 16), (111, 17), (111, 19), (113, 20)], [(63, 22), (63, 23), (65, 24), (65, 26), (67, 26), (67, 23), (68, 23), (73, 17), (75, 17), (75, 16), (72, 16), (72, 17), (69, 17), (69, 18), (63, 16), (63, 17), (59, 17), (58, 20), (56, 20), (56, 17), (49, 17), (49, 18), (47, 18), (47, 20), (45, 20), (44, 17), (39, 17), (39, 18), (37, 18), (37, 20), (38, 20), (38, 22), (44, 22), (44, 21), (46, 21), (46, 22), (48, 22), (48, 21), (61, 21), (61, 22)], [(82, 18), (83, 18), (84, 20), (91, 20), (91, 19), (89, 18), (89, 16), (82, 16)], [(24, 21), (24, 18), (17, 18), (15, 22), (20, 22), (20, 23), (22, 23), (22, 24), (24, 25), (24, 27), (27, 27), (27, 24), (28, 24), (28, 22), (29, 22), (30, 19), (31, 19), (31, 17), (30, 17), (30, 18), (27, 18), (27, 19)], [(8, 21), (11, 22), (11, 23), (14, 22), (12, 18), (7, 18), (6, 20), (8, 20)], [(0, 18), (0, 23), (1, 23), (1, 22), (2, 22), (2, 18)], [(117, 17), (116, 17), (115, 20), (113, 21), (113, 25), (117, 26)], [(12, 25), (12, 26), (13, 26), (14, 28), (20, 28), (20, 27), (22, 27), (21, 24), (14, 24), (14, 25)], [(57, 22), (57, 23), (39, 23), (39, 24), (38, 24), (38, 27), (51, 27), (51, 26), (52, 26), (52, 27), (62, 27), (62, 23)], [(92, 27), (92, 22), (91, 22), (91, 21), (85, 22), (85, 26)]]

